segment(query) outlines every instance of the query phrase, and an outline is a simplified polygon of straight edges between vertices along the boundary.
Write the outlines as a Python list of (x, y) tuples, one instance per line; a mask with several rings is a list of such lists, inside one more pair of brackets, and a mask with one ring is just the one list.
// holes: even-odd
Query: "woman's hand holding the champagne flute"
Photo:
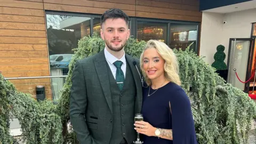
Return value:
[(134, 127), (134, 129), (138, 133), (148, 135), (149, 137), (155, 136), (156, 127), (152, 126), (148, 122), (136, 121), (134, 126), (136, 126), (136, 127)]

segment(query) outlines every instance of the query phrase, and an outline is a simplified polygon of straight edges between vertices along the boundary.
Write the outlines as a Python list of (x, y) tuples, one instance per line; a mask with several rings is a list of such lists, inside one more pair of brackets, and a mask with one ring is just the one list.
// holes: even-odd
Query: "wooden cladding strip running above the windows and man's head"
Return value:
[(119, 8), (130, 17), (197, 21), (202, 19), (198, 0), (44, 0), (45, 10), (102, 14)]

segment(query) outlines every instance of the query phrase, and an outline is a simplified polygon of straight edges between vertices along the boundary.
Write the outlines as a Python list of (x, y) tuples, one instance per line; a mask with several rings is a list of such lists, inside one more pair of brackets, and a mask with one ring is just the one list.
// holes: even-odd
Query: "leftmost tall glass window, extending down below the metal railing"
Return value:
[[(91, 18), (46, 14), (46, 22), (51, 76), (68, 75), (72, 49), (78, 47), (79, 39), (90, 36)], [(64, 83), (65, 78), (51, 79), (53, 101), (60, 98)]]

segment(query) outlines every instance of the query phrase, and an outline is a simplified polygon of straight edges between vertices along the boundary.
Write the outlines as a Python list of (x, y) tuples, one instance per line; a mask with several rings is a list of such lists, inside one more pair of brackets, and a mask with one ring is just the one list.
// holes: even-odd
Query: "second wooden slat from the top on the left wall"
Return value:
[(31, 15), (44, 17), (44, 10), (36, 10), (36, 9), (24, 9), (17, 7), (2, 7), (0, 6), (1, 14), (17, 14), (17, 15)]

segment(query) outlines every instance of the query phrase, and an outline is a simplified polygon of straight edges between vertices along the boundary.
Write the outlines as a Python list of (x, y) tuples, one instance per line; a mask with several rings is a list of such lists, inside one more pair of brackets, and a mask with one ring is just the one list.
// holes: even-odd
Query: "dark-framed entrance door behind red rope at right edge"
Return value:
[[(230, 38), (228, 50), (227, 82), (248, 92), (250, 88), (255, 38)], [(246, 83), (245, 83), (246, 82)]]

